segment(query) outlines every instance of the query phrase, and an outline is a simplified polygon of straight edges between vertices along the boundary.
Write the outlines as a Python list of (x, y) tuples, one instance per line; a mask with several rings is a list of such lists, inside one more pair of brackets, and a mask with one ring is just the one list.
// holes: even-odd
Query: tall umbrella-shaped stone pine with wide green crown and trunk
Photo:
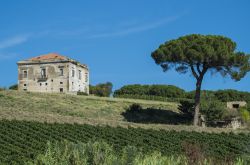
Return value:
[(202, 80), (207, 72), (220, 73), (239, 81), (249, 71), (249, 55), (236, 51), (236, 43), (218, 35), (192, 34), (167, 41), (152, 54), (155, 63), (167, 71), (191, 71), (196, 79), (194, 125), (199, 123)]

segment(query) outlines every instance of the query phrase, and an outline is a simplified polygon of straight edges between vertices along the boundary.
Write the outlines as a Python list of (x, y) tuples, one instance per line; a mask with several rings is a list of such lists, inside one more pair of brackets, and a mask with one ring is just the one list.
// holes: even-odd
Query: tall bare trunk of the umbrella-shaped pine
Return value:
[(195, 91), (195, 104), (194, 104), (194, 126), (198, 126), (199, 124), (199, 116), (200, 116), (200, 100), (201, 100), (201, 83), (203, 76), (197, 79), (196, 82), (196, 91)]

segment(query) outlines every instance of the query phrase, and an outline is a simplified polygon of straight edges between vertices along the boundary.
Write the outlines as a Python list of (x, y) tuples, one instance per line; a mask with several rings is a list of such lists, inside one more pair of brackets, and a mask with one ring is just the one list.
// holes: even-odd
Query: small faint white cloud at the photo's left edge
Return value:
[(6, 49), (26, 42), (30, 35), (18, 35), (0, 41), (0, 49)]

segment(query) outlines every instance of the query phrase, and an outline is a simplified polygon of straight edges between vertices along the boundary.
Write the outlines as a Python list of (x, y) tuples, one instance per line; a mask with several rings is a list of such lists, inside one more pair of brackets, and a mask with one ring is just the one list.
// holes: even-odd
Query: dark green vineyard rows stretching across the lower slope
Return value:
[(183, 142), (200, 144), (209, 157), (225, 159), (250, 154), (250, 135), (233, 133), (199, 133), (142, 128), (91, 126), (80, 124), (49, 124), (28, 121), (0, 121), (0, 162), (24, 164), (46, 149), (48, 141), (106, 141), (119, 153), (132, 145), (143, 152), (159, 151), (163, 155), (183, 152)]

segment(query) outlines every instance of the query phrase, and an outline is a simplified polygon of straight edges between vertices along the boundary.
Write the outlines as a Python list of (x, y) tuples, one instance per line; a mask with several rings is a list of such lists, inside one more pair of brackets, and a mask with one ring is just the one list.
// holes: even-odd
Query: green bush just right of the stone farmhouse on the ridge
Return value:
[(97, 84), (96, 86), (89, 86), (89, 93), (100, 96), (100, 97), (109, 97), (112, 93), (113, 84), (107, 82), (104, 84)]

